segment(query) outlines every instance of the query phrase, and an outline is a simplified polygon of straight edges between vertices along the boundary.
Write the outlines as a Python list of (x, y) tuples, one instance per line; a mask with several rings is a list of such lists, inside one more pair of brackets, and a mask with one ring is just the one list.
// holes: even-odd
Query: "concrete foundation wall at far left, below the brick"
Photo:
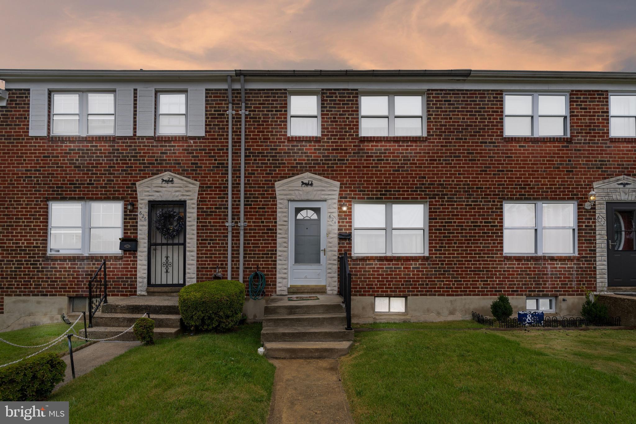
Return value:
[(66, 296), (4, 297), (4, 313), (0, 315), (0, 331), (18, 330), (33, 325), (62, 322), (60, 314), (69, 308)]

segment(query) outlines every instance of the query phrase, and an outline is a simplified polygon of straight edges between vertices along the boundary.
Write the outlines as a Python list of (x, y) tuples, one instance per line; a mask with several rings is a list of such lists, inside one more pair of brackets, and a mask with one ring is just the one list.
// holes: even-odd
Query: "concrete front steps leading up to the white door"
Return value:
[(308, 359), (338, 358), (346, 355), (353, 344), (354, 332), (345, 330), (347, 318), (342, 297), (318, 296), (318, 300), (289, 301), (272, 296), (265, 305), (261, 341), (268, 358)]

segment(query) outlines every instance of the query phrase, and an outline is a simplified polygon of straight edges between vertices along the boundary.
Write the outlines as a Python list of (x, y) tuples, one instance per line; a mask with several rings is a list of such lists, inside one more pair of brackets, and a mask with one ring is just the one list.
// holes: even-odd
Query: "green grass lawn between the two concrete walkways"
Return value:
[(71, 423), (264, 423), (275, 367), (260, 324), (128, 350), (53, 393)]

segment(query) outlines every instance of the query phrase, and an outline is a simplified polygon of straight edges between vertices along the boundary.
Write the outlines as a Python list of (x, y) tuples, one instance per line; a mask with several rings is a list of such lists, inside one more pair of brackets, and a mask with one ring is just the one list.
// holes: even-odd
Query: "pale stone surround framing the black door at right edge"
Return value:
[(636, 202), (636, 178), (621, 175), (593, 184), (597, 193), (597, 291), (607, 292), (607, 202)]

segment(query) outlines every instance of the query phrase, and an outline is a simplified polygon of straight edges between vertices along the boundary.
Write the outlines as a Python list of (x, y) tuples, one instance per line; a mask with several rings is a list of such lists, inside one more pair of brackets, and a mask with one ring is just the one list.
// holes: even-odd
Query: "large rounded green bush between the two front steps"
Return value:
[(212, 280), (186, 285), (179, 292), (179, 313), (191, 330), (228, 331), (239, 324), (245, 303), (245, 285)]

